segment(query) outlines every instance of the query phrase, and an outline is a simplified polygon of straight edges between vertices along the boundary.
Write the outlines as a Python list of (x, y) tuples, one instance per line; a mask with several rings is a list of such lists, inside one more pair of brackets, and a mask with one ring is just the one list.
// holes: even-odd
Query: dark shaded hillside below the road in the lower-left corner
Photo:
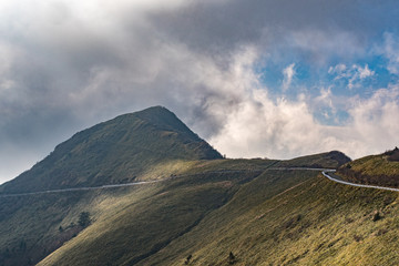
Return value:
[(85, 192), (1, 197), (0, 265), (33, 265), (79, 234), (79, 214), (96, 196)]

